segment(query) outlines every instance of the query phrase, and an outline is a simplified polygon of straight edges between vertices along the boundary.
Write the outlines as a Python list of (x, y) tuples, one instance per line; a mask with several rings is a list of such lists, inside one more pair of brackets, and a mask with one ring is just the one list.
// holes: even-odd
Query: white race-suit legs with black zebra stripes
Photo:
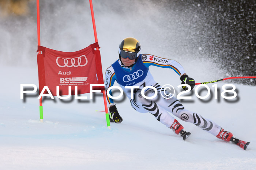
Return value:
[[(218, 135), (221, 127), (212, 120), (203, 118), (201, 115), (185, 109), (174, 96), (170, 99), (163, 98), (162, 96), (165, 94), (163, 93), (163, 89), (161, 91), (161, 86), (158, 83), (153, 87), (155, 87), (158, 92), (157, 97), (154, 99), (144, 98), (141, 94), (141, 90), (135, 93), (134, 98), (131, 99), (131, 106), (136, 111), (142, 113), (150, 112), (159, 122), (165, 124), (166, 127), (172, 126), (174, 122), (173, 116), (169, 114), (169, 112), (171, 112), (185, 122), (191, 122), (214, 136)], [(146, 93), (146, 96), (151, 97), (154, 94), (155, 91), (150, 89)]]

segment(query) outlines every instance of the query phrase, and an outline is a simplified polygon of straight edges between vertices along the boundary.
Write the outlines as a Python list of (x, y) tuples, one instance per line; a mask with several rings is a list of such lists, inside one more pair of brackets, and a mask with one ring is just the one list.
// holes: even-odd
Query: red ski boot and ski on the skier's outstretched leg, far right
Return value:
[(246, 150), (247, 146), (250, 144), (250, 142), (245, 142), (237, 139), (231, 132), (225, 131), (223, 128), (221, 128), (219, 134), (216, 137), (226, 142), (232, 142), (244, 150)]

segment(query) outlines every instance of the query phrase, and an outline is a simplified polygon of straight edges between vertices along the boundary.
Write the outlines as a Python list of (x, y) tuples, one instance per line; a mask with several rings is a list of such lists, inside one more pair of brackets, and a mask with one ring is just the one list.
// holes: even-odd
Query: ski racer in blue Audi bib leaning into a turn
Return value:
[[(150, 74), (149, 66), (171, 68), (180, 76), (181, 84), (188, 84), (191, 90), (195, 86), (195, 80), (185, 73), (180, 63), (150, 54), (140, 54), (139, 41), (133, 37), (127, 37), (119, 45), (119, 59), (106, 70), (105, 90), (113, 86), (114, 82), (117, 81), (129, 98), (131, 106), (136, 111), (142, 113), (150, 112), (159, 122), (172, 129), (174, 133), (183, 137), (184, 140), (191, 133), (187, 132), (168, 112), (172, 112), (173, 115), (185, 122), (191, 122), (199, 126), (219, 139), (227, 142), (231, 141), (244, 150), (246, 149), (250, 142), (241, 141), (212, 120), (204, 118), (196, 112), (186, 110), (174, 96), (170, 99), (163, 98), (162, 96), (165, 96), (164, 91), (163, 89), (161, 90), (161, 86), (155, 82), (153, 76)], [(125, 86), (128, 86), (128, 88), (125, 88)], [(139, 88), (132, 88), (134, 86), (138, 86)], [(153, 99), (144, 98), (142, 96), (142, 88), (146, 86), (155, 87), (158, 97)], [(187, 86), (182, 86), (182, 88), (188, 90)], [(145, 91), (148, 97), (155, 94), (152, 88), (148, 88)], [(110, 95), (112, 95), (111, 91)], [(116, 104), (114, 104), (113, 99), (109, 98), (108, 95), (106, 97), (109, 102), (110, 122), (121, 123), (123, 118), (119, 115)]]

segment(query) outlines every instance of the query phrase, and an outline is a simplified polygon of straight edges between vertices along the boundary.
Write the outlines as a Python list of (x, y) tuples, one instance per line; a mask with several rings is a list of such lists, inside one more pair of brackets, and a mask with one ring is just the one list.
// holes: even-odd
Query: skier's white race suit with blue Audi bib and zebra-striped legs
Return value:
[[(218, 135), (221, 127), (212, 120), (203, 118), (196, 112), (186, 110), (180, 101), (178, 101), (174, 96), (170, 99), (163, 98), (162, 96), (165, 95), (163, 93), (163, 89), (161, 91), (161, 86), (155, 82), (153, 76), (148, 70), (149, 66), (171, 68), (180, 76), (185, 73), (181, 64), (174, 60), (162, 59), (149, 54), (142, 54), (131, 68), (123, 66), (120, 60), (117, 60), (112, 64), (112, 66), (106, 70), (104, 82), (105, 90), (113, 86), (114, 82), (117, 81), (126, 96), (129, 98), (131, 106), (136, 111), (142, 113), (150, 112), (159, 122), (165, 124), (167, 127), (172, 126), (174, 122), (173, 116), (169, 114), (169, 112), (171, 112), (181, 120), (191, 122), (212, 135)], [(125, 88), (125, 86), (138, 86), (139, 90), (134, 92), (132, 98), (132, 90), (130, 88)], [(141, 89), (145, 86), (154, 86), (157, 89), (157, 97), (154, 99), (143, 98)], [(155, 94), (155, 91), (151, 88), (145, 91), (147, 91), (146, 96), (148, 97)], [(111, 91), (110, 95), (112, 95)], [(109, 96), (106, 96), (106, 98), (109, 103), (113, 103), (113, 99), (109, 98)]]

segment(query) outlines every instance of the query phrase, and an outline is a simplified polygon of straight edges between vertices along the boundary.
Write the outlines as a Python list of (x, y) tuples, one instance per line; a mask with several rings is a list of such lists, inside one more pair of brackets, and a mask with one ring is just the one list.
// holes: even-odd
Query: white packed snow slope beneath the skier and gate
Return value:
[[(94, 99), (46, 99), (39, 121), (38, 94), (20, 99), (20, 84), (38, 84), (34, 68), (2, 67), (0, 99), (1, 169), (254, 169), (256, 167), (255, 87), (236, 85), (233, 103), (223, 98), (202, 102), (192, 94), (184, 106), (250, 141), (246, 151), (178, 119), (192, 135), (183, 141), (149, 113), (132, 109), (127, 99), (117, 108), (120, 124), (106, 127), (101, 94)], [(172, 72), (172, 70), (167, 70)], [(5, 74), (8, 73), (8, 74)], [(177, 86), (180, 82), (175, 77)], [(170, 79), (169, 79), (170, 80)], [(170, 83), (165, 80), (165, 83)], [(164, 83), (164, 82), (161, 82)], [(221, 87), (224, 83), (218, 83)], [(209, 87), (211, 88), (210, 84)], [(213, 88), (211, 88), (213, 89)], [(193, 92), (194, 93), (194, 92)], [(214, 93), (212, 90), (211, 93)], [(201, 95), (205, 95), (204, 92)], [(87, 95), (88, 96), (88, 95)], [(98, 111), (96, 111), (98, 110)]]

